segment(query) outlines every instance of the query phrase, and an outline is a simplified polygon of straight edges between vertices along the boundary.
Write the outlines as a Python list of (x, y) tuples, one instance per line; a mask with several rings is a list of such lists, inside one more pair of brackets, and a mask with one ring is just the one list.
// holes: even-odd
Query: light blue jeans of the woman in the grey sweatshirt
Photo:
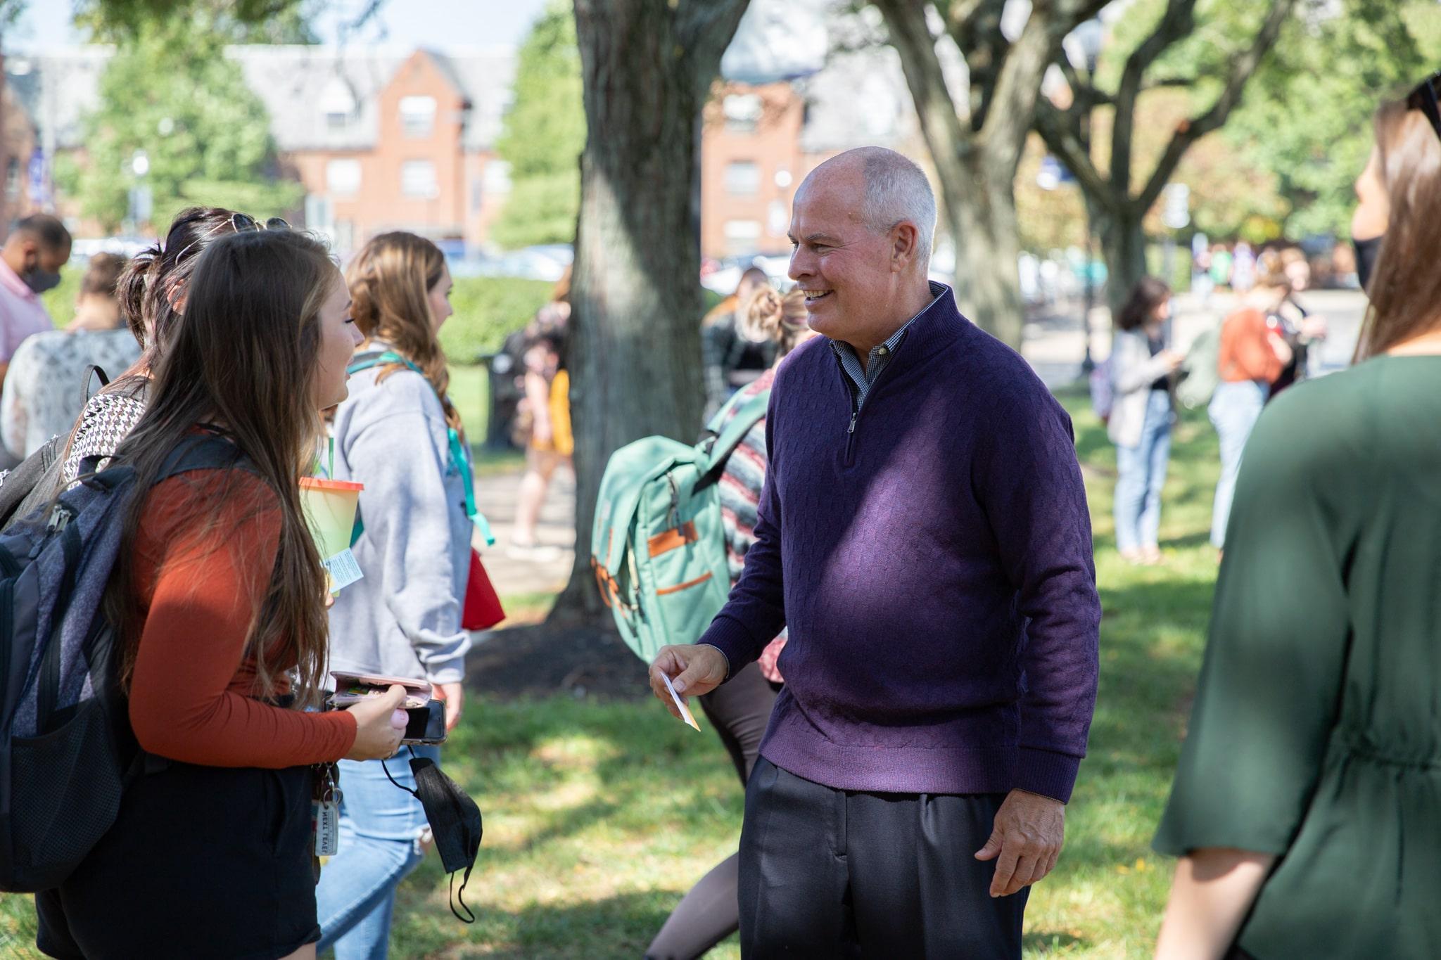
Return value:
[[(395, 783), (415, 789), (411, 750), (440, 763), (440, 747), (402, 747), (386, 760)], [(386, 779), (379, 760), (340, 761), (340, 852), (320, 871), (317, 953), (336, 960), (385, 960), (391, 946), (395, 888), (422, 859), (425, 809)]]

